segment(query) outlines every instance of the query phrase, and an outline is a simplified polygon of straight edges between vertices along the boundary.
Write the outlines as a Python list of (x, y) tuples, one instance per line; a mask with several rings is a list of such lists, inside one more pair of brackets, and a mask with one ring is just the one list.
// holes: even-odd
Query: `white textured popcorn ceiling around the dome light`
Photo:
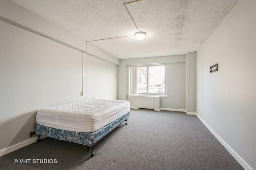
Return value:
[[(138, 32), (124, 3), (133, 0), (11, 0), (74, 35), (92, 41)], [(144, 40), (90, 42), (118, 59), (197, 51), (237, 0), (144, 0), (126, 5)]]

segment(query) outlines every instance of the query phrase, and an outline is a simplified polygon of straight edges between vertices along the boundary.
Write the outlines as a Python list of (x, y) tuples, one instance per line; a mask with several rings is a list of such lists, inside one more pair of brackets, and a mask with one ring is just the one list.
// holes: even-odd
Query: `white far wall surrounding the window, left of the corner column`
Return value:
[(133, 106), (133, 96), (128, 95), (128, 65), (167, 63), (167, 97), (160, 98), (162, 109), (185, 111), (186, 107), (186, 55), (125, 59), (118, 66), (118, 100), (128, 100)]

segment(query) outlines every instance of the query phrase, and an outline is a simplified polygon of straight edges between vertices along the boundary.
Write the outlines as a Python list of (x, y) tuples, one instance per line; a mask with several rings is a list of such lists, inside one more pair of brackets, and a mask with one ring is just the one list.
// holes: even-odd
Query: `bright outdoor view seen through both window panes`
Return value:
[(138, 94), (165, 94), (165, 65), (138, 66)]

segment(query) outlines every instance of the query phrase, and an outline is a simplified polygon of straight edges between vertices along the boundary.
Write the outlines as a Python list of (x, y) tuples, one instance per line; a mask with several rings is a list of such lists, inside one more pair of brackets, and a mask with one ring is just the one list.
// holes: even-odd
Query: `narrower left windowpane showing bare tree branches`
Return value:
[(137, 71), (137, 92), (147, 93), (147, 67), (138, 67)]

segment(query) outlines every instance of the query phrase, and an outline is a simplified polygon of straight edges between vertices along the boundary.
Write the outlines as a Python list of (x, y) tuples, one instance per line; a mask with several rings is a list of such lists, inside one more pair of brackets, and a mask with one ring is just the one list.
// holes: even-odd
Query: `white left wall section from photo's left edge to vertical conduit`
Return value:
[(29, 139), (37, 109), (80, 99), (82, 53), (4, 21), (0, 27), (1, 150)]

